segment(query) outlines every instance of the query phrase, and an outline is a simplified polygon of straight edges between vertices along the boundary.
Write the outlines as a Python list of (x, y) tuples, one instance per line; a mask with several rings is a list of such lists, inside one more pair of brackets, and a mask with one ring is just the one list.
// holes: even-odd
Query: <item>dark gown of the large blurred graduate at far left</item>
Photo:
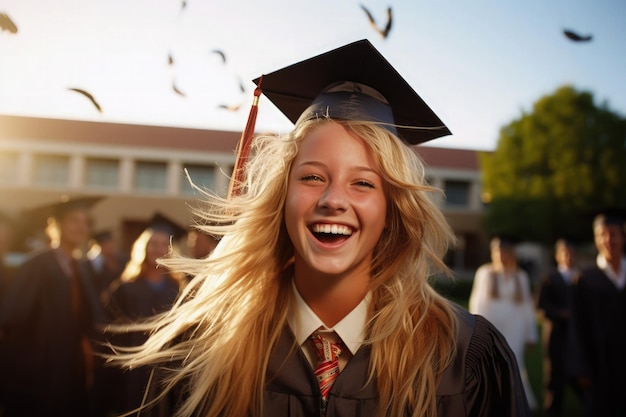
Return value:
[(17, 271), (0, 305), (2, 368), (7, 416), (83, 416), (88, 406), (83, 337), (96, 337), (104, 319), (93, 277), (78, 266), (82, 311), (71, 308), (71, 280), (54, 250), (31, 256)]

